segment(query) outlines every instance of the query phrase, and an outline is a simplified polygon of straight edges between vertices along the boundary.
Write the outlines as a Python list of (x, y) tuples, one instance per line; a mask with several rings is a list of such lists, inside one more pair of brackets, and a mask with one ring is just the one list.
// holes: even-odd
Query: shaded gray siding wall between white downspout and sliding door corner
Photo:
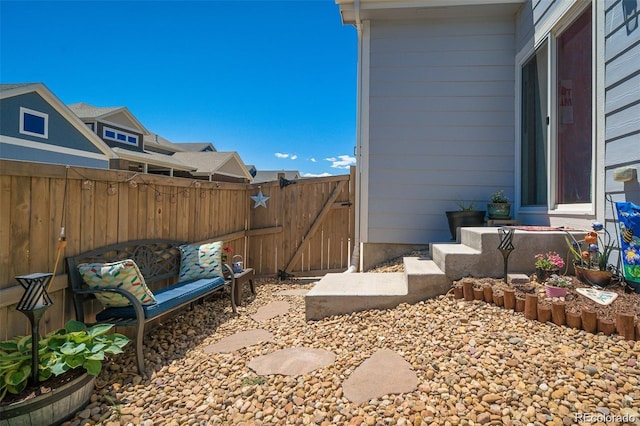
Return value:
[(513, 195), (513, 16), (370, 28), (367, 242), (449, 240), (452, 200)]

